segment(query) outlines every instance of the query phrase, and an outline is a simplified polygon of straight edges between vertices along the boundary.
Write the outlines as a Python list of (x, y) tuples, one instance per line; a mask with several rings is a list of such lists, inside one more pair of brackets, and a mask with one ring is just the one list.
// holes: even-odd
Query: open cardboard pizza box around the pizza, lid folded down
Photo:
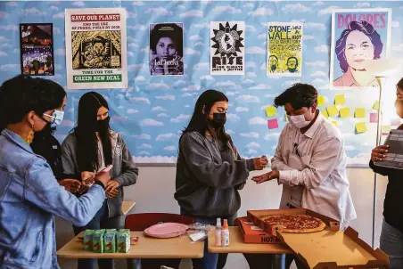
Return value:
[[(305, 214), (323, 220), (326, 228), (321, 232), (288, 233), (276, 230), (276, 226), (265, 224), (269, 215)], [(388, 268), (389, 257), (381, 249), (372, 249), (364, 240), (358, 238), (358, 232), (352, 228), (340, 231), (339, 223), (328, 216), (314, 211), (295, 209), (251, 210), (248, 217), (259, 227), (268, 232), (276, 232), (279, 240), (284, 242), (300, 261), (308, 268)]]

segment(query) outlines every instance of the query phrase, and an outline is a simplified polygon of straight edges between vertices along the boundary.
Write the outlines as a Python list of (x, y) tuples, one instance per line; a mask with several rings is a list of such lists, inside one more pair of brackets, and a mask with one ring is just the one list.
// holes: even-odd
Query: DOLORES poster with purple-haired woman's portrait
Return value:
[(334, 10), (330, 86), (333, 90), (378, 87), (366, 60), (388, 57), (390, 9)]

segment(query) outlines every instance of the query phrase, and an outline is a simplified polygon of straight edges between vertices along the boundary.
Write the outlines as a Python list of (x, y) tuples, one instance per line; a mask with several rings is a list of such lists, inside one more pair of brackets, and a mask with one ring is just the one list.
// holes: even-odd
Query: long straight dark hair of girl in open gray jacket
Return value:
[[(98, 170), (101, 159), (98, 155), (97, 113), (104, 107), (109, 110), (108, 102), (103, 95), (90, 92), (81, 96), (78, 102), (78, 123), (74, 128), (77, 139), (77, 156), (79, 171)], [(103, 159), (105, 166), (112, 163), (111, 128), (99, 133), (103, 144)]]

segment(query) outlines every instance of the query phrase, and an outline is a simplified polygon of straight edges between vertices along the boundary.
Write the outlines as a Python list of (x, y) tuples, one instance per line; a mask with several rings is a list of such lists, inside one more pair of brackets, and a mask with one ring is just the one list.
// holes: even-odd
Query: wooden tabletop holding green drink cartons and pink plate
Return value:
[(144, 232), (131, 232), (138, 236), (136, 245), (132, 245), (127, 253), (94, 253), (84, 250), (82, 240), (84, 232), (70, 240), (62, 249), (57, 251), (58, 257), (63, 258), (201, 258), (203, 257), (204, 242), (192, 243), (187, 234), (170, 239), (155, 239), (147, 237)]

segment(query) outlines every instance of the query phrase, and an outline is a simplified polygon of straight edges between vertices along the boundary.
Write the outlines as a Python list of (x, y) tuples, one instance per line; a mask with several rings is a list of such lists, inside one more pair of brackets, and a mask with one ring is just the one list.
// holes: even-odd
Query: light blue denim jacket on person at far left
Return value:
[(53, 216), (86, 225), (102, 207), (99, 185), (79, 199), (57, 183), (20, 135), (0, 135), (0, 269), (59, 268)]

